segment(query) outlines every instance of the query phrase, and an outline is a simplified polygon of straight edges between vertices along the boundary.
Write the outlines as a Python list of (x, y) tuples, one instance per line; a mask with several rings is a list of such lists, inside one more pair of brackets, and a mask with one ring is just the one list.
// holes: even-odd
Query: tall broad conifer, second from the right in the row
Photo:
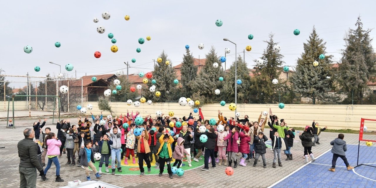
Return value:
[[(332, 89), (331, 79), (326, 78), (331, 76), (332, 55), (318, 58), (320, 54), (326, 54), (325, 44), (313, 27), (307, 43), (303, 43), (304, 52), (298, 58), (296, 71), (291, 77), (294, 91), (312, 99), (312, 104), (316, 99), (328, 100), (330, 95), (327, 93)], [(314, 61), (318, 61), (318, 66), (313, 65)]]

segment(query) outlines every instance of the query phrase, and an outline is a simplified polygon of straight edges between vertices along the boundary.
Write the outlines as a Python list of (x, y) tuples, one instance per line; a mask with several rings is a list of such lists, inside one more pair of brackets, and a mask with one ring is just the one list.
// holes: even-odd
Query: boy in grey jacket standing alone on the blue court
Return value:
[(349, 162), (347, 162), (346, 154), (347, 146), (346, 141), (343, 140), (345, 137), (344, 134), (340, 133), (338, 134), (338, 138), (334, 139), (330, 142), (330, 145), (332, 145), (332, 153), (333, 153), (333, 159), (332, 159), (332, 168), (329, 168), (329, 171), (335, 172), (335, 164), (337, 162), (338, 157), (340, 157), (343, 162), (346, 165), (347, 170), (351, 170), (354, 167), (350, 166)]

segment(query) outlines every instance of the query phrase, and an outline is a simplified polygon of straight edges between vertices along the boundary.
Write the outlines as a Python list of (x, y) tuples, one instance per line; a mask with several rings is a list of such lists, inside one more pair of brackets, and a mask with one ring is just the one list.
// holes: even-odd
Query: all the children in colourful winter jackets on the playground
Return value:
[[(237, 168), (238, 157), (241, 153), (239, 165), (246, 166), (248, 162), (253, 161), (253, 167), (256, 167), (259, 157), (261, 156), (263, 167), (267, 168), (265, 153), (267, 145), (265, 142), (268, 140), (264, 134), (265, 124), (268, 122), (270, 126), (269, 138), (271, 139), (271, 147), (273, 150), (274, 158), (272, 167), (282, 167), (281, 151), (284, 151), (287, 160), (293, 160), (291, 154), (291, 147), (293, 147), (295, 130), (288, 127), (285, 120), (278, 122), (278, 117), (273, 115), (269, 109), (268, 114), (262, 113), (259, 115), (257, 121), (249, 121), (248, 116), (245, 115), (244, 119), (235, 120), (235, 118), (223, 117), (222, 113), (218, 111), (218, 118), (216, 124), (211, 126), (208, 120), (201, 124), (203, 115), (200, 109), (199, 119), (197, 120), (192, 116), (192, 112), (188, 118), (173, 118), (173, 117), (155, 117), (152, 119), (147, 115), (145, 121), (137, 126), (134, 123), (136, 117), (140, 116), (138, 112), (135, 115), (127, 113), (127, 116), (112, 118), (111, 115), (103, 117), (101, 115), (92, 116), (95, 123), (89, 121), (88, 116), (82, 121), (82, 117), (78, 118), (78, 125), (70, 125), (70, 120), (62, 120), (56, 124), (58, 129), (57, 135), (51, 132), (49, 127), (45, 128), (42, 132), (42, 124), (35, 122), (33, 128), (35, 131), (35, 138), (39, 140), (42, 166), (45, 166), (45, 156), (47, 155), (48, 162), (44, 169), (44, 175), (41, 180), (47, 180), (46, 174), (52, 163), (56, 166), (56, 182), (62, 182), (60, 178), (60, 164), (58, 158), (62, 156), (62, 152), (67, 152), (68, 162), (65, 165), (75, 166), (75, 153), (78, 152), (77, 166), (85, 168), (86, 179), (90, 179), (89, 167), (99, 179), (102, 175), (102, 166), (105, 164), (105, 171), (109, 173), (109, 158), (111, 155), (111, 174), (115, 171), (121, 172), (121, 162), (128, 165), (128, 160), (132, 156), (132, 163), (136, 164), (135, 158), (138, 158), (138, 165), (140, 169), (140, 176), (145, 173), (144, 163), (147, 166), (147, 171), (151, 171), (151, 162), (153, 156), (156, 161), (156, 166), (159, 166), (159, 176), (162, 176), (165, 164), (167, 165), (167, 172), (172, 179), (172, 171), (170, 162), (175, 160), (172, 167), (179, 168), (182, 166), (182, 159), (186, 157), (188, 165), (191, 167), (193, 161), (199, 162), (202, 160), (201, 156), (204, 153), (204, 167), (202, 170), (209, 170), (209, 163), (212, 168), (218, 165), (233, 165)], [(206, 131), (200, 130), (200, 126), (205, 126)], [(222, 127), (223, 126), (223, 127)], [(141, 135), (135, 136), (134, 130), (141, 128)], [(313, 121), (312, 127), (306, 126), (304, 132), (299, 133), (299, 138), (304, 147), (305, 162), (315, 161), (315, 157), (311, 151), (312, 146), (319, 143), (318, 136), (321, 131), (318, 123)], [(171, 131), (173, 133), (171, 133)], [(38, 132), (38, 134), (37, 134)], [(171, 134), (174, 134), (171, 135)], [(206, 135), (207, 141), (200, 141), (200, 136)], [(335, 171), (335, 161), (338, 157), (344, 159), (348, 169), (352, 169), (348, 164), (344, 152), (346, 152), (346, 142), (343, 141), (343, 134), (340, 134), (337, 139), (331, 142), (334, 145), (332, 152), (333, 164), (330, 171)], [(312, 138), (314, 141), (312, 142)], [(340, 140), (339, 140), (340, 139)], [(342, 141), (341, 141), (342, 140)], [(94, 147), (93, 147), (94, 146)], [(342, 149), (341, 149), (342, 147)], [(94, 154), (98, 152), (102, 155), (99, 162), (99, 170), (97, 171), (93, 163)], [(136, 152), (136, 156), (135, 156)], [(125, 154), (125, 156), (124, 156)], [(130, 161), (129, 161), (130, 162)]]

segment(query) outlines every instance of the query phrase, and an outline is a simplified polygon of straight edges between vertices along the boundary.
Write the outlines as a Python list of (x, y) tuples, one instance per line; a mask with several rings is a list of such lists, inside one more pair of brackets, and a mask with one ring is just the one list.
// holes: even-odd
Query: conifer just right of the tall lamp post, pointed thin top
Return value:
[(279, 82), (274, 85), (271, 82), (273, 79), (279, 78), (282, 71), (281, 65), (284, 64), (282, 60), (284, 56), (273, 51), (273, 46), (278, 44), (274, 42), (273, 36), (272, 33), (269, 34), (269, 41), (264, 41), (268, 44), (261, 57), (264, 60), (264, 64), (255, 67), (255, 77), (252, 79), (252, 89), (254, 91), (254, 99), (252, 100), (257, 100), (259, 103), (278, 102), (278, 96), (284, 89), (284, 83)]

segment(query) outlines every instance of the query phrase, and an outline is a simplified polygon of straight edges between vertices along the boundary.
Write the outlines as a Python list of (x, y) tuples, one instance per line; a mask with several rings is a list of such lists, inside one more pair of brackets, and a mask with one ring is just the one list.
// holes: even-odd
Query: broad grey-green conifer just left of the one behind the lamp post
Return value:
[[(217, 68), (213, 67), (215, 62), (219, 65)], [(215, 89), (221, 90), (222, 88), (219, 77), (224, 77), (224, 72), (221, 66), (222, 63), (215, 52), (215, 48), (212, 46), (210, 52), (206, 54), (205, 66), (202, 67), (197, 78), (189, 83), (193, 95), (196, 92), (200, 92), (199, 96), (203, 96), (202, 99), (193, 100), (200, 100), (203, 103), (219, 103), (222, 100), (221, 97), (216, 97), (214, 93)]]

